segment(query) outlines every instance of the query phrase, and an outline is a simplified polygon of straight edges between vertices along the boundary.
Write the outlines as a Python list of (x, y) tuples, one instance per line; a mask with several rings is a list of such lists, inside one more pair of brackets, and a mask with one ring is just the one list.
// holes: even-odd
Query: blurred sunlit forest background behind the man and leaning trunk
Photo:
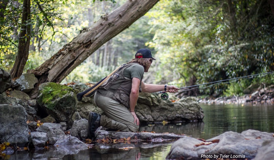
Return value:
[[(0, 68), (12, 72), (20, 51), (20, 37), (29, 39), (23, 70), (26, 73), (41, 66), (85, 28), (92, 27), (125, 2), (1, 1)], [(25, 4), (30, 7), (24, 7)], [(22, 16), (24, 9), (30, 15), (26, 21)], [(22, 34), (23, 31), (26, 33)], [(144, 75), (146, 83), (183, 87), (274, 71), (274, 2), (161, 0), (93, 52), (61, 83), (98, 82), (133, 59), (140, 48), (150, 49), (156, 58)], [(242, 95), (252, 84), (268, 86), (273, 82), (274, 75), (269, 74), (183, 94)]]

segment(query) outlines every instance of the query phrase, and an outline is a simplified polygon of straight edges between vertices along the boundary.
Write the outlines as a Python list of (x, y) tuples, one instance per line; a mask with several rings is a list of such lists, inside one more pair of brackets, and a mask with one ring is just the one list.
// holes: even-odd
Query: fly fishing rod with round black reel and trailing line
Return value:
[[(190, 88), (190, 87), (195, 87), (195, 86), (201, 86), (201, 85), (207, 85), (207, 84), (210, 84), (210, 83), (214, 83), (214, 84), (212, 84), (212, 85), (210, 85), (210, 86), (206, 86), (206, 87), (195, 87), (195, 88), (191, 88), (191, 89), (187, 89), (187, 90), (182, 90), (182, 91), (190, 91), (190, 90), (196, 89), (196, 88), (198, 88), (198, 89), (204, 89), (204, 88), (208, 88), (208, 87), (211, 87), (211, 86), (217, 85), (217, 84), (235, 82), (235, 81), (240, 80), (240, 79), (242, 79), (242, 78), (250, 79), (250, 78), (253, 78), (253, 77), (261, 77), (261, 76), (264, 77), (264, 76), (266, 76), (266, 75), (268, 75), (268, 74), (272, 74), (272, 73), (274, 73), (274, 71), (273, 71), (273, 72), (260, 73), (260, 74), (254, 74), (254, 75), (247, 75), (247, 76), (238, 77), (238, 78), (230, 78), (230, 79), (227, 79), (227, 80), (220, 80), (220, 81), (216, 81), (216, 82), (209, 82), (209, 83), (204, 83), (204, 84), (200, 84), (200, 85), (187, 86), (187, 87), (178, 88), (177, 90), (181, 90), (181, 89), (184, 89), (184, 88)], [(264, 74), (264, 75), (262, 75), (262, 74)], [(233, 81), (230, 81), (230, 82), (223, 82), (223, 81), (228, 81), (228, 80), (233, 80)], [(217, 82), (219, 82), (219, 83), (217, 83)], [(162, 93), (162, 94), (161, 94), (162, 100), (167, 100), (167, 99), (169, 98), (169, 95), (168, 95), (166, 92), (167, 92), (167, 91), (158, 92), (158, 94), (159, 94), (159, 93)]]

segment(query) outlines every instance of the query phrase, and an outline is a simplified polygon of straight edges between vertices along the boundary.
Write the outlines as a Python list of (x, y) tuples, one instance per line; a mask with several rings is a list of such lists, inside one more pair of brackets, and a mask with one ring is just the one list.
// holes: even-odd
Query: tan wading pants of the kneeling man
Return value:
[(123, 104), (109, 97), (99, 95), (96, 92), (94, 101), (95, 104), (104, 111), (101, 115), (100, 126), (124, 132), (138, 131), (139, 126), (134, 123), (133, 115)]

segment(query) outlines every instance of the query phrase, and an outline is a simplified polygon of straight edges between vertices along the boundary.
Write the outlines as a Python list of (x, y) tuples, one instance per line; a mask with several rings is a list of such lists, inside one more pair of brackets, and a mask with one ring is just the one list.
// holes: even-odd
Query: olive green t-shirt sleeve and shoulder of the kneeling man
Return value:
[(128, 68), (125, 68), (124, 71), (123, 71), (123, 74), (124, 74), (124, 77), (127, 77), (127, 78), (139, 78), (140, 80), (143, 79), (143, 76), (144, 76), (144, 67), (141, 66), (141, 65), (132, 65), (132, 66), (129, 66)]

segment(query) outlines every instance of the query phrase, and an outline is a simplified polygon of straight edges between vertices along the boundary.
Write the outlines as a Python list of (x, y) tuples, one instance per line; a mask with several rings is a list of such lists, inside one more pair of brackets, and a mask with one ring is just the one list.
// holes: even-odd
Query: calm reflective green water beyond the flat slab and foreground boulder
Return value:
[(227, 131), (239, 132), (255, 129), (274, 132), (273, 105), (201, 105), (204, 120), (181, 124), (142, 125), (140, 130), (148, 132), (170, 132), (190, 135), (194, 138), (210, 139)]

